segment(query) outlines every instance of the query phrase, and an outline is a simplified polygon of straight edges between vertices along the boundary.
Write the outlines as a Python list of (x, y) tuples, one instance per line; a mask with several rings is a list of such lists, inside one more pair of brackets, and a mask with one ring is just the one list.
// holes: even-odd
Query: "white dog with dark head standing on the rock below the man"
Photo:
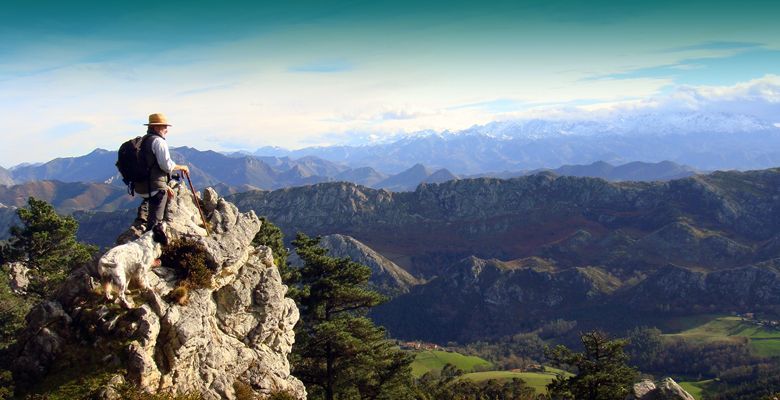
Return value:
[(112, 292), (116, 285), (122, 305), (130, 308), (131, 304), (125, 297), (125, 292), (128, 283), (133, 279), (138, 282), (142, 290), (149, 289), (146, 274), (154, 260), (162, 254), (162, 245), (168, 244), (166, 230), (165, 224), (157, 225), (140, 238), (116, 246), (100, 258), (98, 273), (107, 300), (113, 300)]

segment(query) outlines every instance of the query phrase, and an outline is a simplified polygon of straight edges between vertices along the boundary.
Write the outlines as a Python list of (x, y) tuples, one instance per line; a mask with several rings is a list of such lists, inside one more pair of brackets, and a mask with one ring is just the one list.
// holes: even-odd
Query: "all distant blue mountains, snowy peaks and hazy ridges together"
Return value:
[[(753, 116), (624, 112), (599, 119), (492, 122), (457, 132), (418, 132), (358, 146), (294, 151), (264, 147), (254, 153), (231, 154), (180, 147), (172, 149), (172, 156), (178, 163), (193, 166), (192, 177), (199, 186), (222, 183), (273, 190), (345, 180), (396, 190), (394, 182), (382, 181), (418, 164), (432, 172), (445, 170), (441, 177), (433, 178), (437, 182), (446, 180), (447, 175), (496, 176), (499, 171), (535, 171), (599, 161), (612, 165), (671, 161), (695, 170), (746, 170), (780, 164), (779, 149), (780, 127)], [(31, 180), (116, 182), (115, 161), (115, 152), (96, 149), (82, 157), (0, 169), (0, 184)]]

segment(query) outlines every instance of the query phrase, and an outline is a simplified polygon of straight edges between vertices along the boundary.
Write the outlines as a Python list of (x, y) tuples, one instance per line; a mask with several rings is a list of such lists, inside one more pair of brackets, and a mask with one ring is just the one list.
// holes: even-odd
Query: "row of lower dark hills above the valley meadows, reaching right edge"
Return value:
[(633, 280), (602, 267), (560, 269), (538, 258), (468, 257), (377, 307), (371, 317), (399, 338), (471, 342), (530, 332), (553, 321), (624, 332), (681, 315), (776, 316), (780, 259), (718, 271), (667, 265)]

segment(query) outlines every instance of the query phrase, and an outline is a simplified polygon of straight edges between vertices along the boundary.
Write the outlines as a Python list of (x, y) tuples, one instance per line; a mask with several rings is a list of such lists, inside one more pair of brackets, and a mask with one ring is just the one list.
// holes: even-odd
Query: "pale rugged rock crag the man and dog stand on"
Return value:
[(135, 296), (140, 306), (124, 310), (96, 294), (95, 266), (85, 266), (71, 274), (54, 300), (28, 316), (14, 362), (22, 387), (79, 363), (123, 369), (128, 382), (149, 392), (234, 399), (238, 384), (256, 394), (287, 391), (304, 399), (305, 388), (287, 361), (298, 309), (284, 297), (287, 288), (270, 249), (251, 245), (260, 220), (210, 189), (204, 208), (209, 236), (192, 194), (177, 188), (169, 236), (205, 247), (216, 268), (211, 287), (190, 290), (186, 304), (169, 302), (179, 278), (163, 265), (147, 275), (153, 290)]

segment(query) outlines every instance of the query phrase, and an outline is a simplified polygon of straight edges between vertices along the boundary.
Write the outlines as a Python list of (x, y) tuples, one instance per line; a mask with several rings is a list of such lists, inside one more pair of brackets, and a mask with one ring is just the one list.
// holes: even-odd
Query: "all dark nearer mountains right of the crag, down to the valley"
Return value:
[[(671, 315), (777, 313), (778, 198), (775, 168), (665, 182), (543, 171), (412, 192), (328, 182), (228, 199), (288, 238), (323, 236), (333, 255), (371, 265), (392, 298), (372, 317), (394, 337), (446, 342), (555, 319), (622, 329)], [(134, 214), (73, 215), (80, 239), (106, 245)]]

